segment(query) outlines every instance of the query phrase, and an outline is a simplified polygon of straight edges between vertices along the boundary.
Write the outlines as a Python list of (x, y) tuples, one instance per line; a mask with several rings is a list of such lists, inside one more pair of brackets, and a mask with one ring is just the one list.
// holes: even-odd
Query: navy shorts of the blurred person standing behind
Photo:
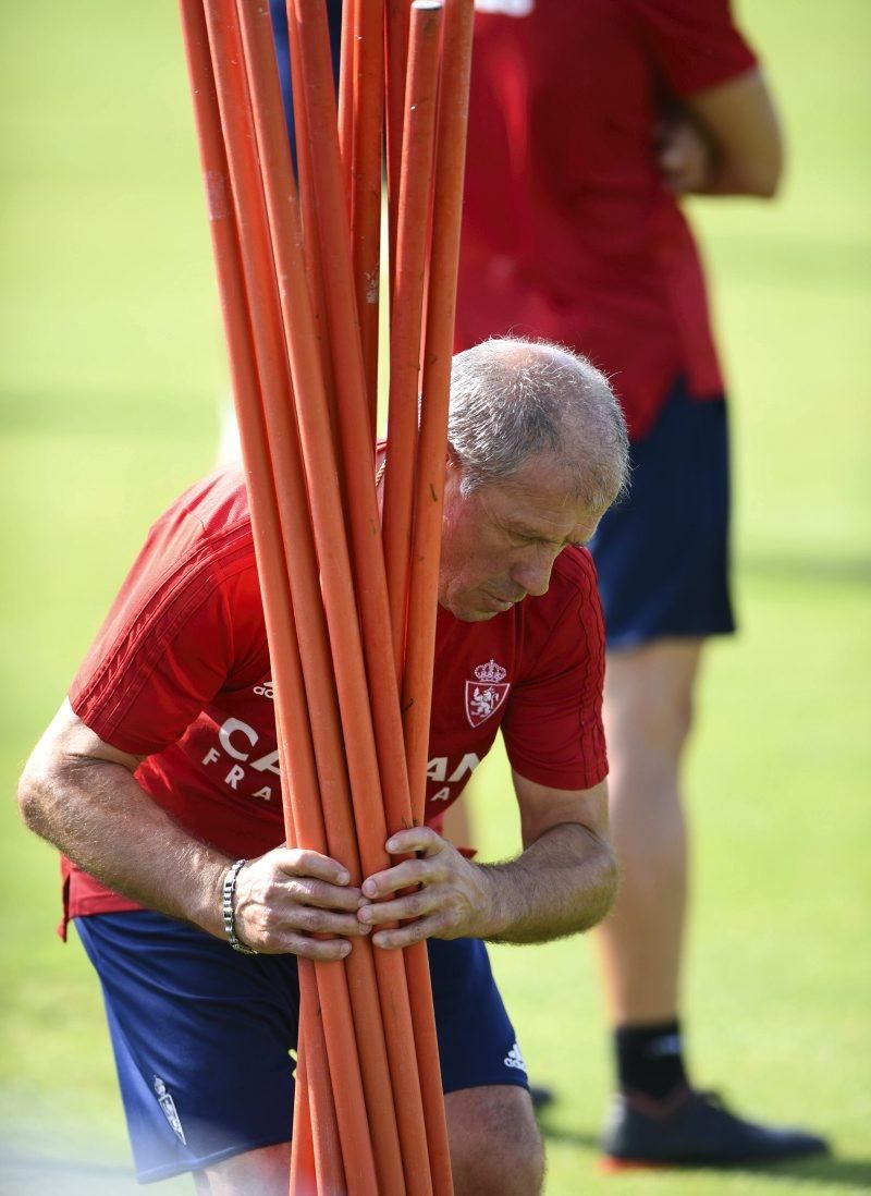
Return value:
[(735, 630), (729, 598), (729, 431), (722, 398), (673, 388), (632, 444), (631, 489), (599, 525), (608, 648)]

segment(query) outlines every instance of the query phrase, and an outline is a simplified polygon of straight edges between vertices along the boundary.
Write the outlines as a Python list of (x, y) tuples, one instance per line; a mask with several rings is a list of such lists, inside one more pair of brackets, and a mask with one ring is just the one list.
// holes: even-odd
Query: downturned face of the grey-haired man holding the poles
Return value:
[(438, 602), (467, 623), (546, 593), (559, 554), (587, 543), (603, 514), (568, 496), (565, 472), (546, 453), (470, 495), (460, 493), (461, 480), (460, 466), (449, 462)]

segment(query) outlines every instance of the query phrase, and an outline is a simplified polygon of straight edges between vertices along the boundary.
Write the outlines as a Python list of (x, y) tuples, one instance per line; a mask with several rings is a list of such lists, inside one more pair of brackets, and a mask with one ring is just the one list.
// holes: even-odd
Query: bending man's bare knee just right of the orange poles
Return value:
[(545, 1154), (532, 1100), (510, 1085), (444, 1098), (456, 1196), (536, 1196)]

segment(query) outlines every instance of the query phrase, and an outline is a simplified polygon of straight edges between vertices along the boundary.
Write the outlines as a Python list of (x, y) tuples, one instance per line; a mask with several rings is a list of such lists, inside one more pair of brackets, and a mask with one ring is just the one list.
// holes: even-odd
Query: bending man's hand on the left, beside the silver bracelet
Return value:
[[(356, 916), (364, 904), (343, 865), (318, 852), (278, 847), (240, 871), (235, 933), (263, 954), (342, 959), (351, 950), (349, 939), (369, 933)], [(320, 934), (331, 938), (311, 938)]]

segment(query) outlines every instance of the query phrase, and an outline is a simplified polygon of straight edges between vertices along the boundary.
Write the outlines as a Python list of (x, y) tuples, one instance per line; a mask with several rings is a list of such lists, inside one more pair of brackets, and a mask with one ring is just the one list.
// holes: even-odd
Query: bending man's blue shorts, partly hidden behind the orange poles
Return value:
[[(151, 910), (75, 920), (103, 986), (140, 1182), (290, 1139), (295, 956), (243, 956)], [(483, 942), (430, 940), (446, 1092), (527, 1087)]]

